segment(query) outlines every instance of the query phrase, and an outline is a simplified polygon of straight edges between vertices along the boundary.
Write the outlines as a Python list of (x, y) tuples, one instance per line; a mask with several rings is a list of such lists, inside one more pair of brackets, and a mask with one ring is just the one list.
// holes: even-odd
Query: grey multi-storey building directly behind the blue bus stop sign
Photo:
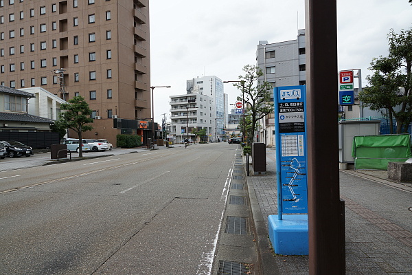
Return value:
[[(272, 87), (306, 85), (305, 30), (298, 30), (297, 39), (279, 43), (259, 41), (256, 65), (263, 76), (258, 81), (271, 83)], [(268, 104), (273, 104), (272, 101)], [(275, 116), (266, 115), (259, 123), (255, 142), (275, 146)]]

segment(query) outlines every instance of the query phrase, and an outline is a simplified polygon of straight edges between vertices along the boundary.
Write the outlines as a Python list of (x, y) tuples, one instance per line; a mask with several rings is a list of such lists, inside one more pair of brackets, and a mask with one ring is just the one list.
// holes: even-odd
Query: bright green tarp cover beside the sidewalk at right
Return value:
[(355, 159), (355, 169), (387, 170), (388, 162), (405, 162), (411, 157), (411, 136), (356, 136), (352, 157)]

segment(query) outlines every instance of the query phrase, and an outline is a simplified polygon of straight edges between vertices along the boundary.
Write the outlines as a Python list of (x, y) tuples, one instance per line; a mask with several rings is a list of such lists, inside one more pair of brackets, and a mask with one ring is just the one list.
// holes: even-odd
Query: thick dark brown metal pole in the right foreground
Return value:
[[(339, 200), (336, 0), (306, 0), (309, 274), (345, 274)], [(343, 261), (342, 261), (343, 257)]]

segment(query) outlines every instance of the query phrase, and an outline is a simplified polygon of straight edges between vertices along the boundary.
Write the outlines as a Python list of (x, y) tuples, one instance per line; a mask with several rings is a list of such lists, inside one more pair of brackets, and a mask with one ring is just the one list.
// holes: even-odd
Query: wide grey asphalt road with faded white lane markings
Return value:
[(0, 274), (209, 274), (238, 148), (1, 170)]

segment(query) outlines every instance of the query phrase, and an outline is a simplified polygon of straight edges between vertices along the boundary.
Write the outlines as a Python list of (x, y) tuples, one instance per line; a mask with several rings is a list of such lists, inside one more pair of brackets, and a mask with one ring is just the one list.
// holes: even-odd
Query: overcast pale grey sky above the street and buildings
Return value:
[[(387, 34), (412, 28), (408, 0), (338, 0), (338, 69), (362, 69), (372, 58), (387, 56)], [(255, 65), (259, 41), (296, 39), (305, 28), (304, 0), (155, 0), (150, 1), (151, 85), (155, 121), (166, 113), (169, 96), (186, 94), (186, 80), (217, 76), (237, 80), (247, 64)], [(337, 72), (336, 72), (337, 74)], [(229, 102), (240, 93), (225, 84)]]

